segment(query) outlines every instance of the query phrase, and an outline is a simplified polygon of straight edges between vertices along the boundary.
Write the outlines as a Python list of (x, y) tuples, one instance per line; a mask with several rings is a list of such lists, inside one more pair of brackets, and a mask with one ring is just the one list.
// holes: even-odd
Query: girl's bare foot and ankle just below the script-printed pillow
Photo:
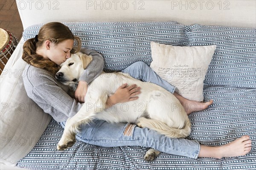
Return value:
[(180, 101), (181, 105), (183, 105), (187, 115), (195, 111), (202, 111), (208, 108), (208, 106), (211, 105), (213, 102), (212, 100), (210, 100), (209, 102), (196, 102), (193, 100), (186, 99), (180, 96), (179, 94), (177, 94), (176, 92), (174, 92), (174, 95)]

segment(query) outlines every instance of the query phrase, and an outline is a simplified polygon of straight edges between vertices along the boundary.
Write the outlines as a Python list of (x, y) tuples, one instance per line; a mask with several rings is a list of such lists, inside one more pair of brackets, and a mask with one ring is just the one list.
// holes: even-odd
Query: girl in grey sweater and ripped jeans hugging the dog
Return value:
[[(73, 49), (73, 42), (78, 42), (76, 51)], [(81, 51), (93, 56), (84, 73), (80, 77), (75, 98), (71, 98), (67, 92), (68, 87), (55, 80), (55, 73), (59, 65), (70, 57), (71, 53)], [(81, 48), (79, 37), (73, 36), (70, 29), (62, 23), (47, 23), (41, 27), (35, 38), (29, 39), (23, 46), (23, 60), (29, 65), (26, 66), (26, 77), (23, 77), (24, 85), (28, 96), (33, 99), (46, 113), (49, 113), (57, 122), (64, 127), (69, 117), (74, 116), (84, 102), (88, 84), (99, 76), (103, 70), (103, 58), (96, 51)], [(212, 103), (194, 102), (184, 99), (175, 93), (175, 88), (168, 82), (157, 76), (145, 63), (136, 62), (126, 68), (123, 72), (129, 73), (132, 77), (143, 81), (154, 82), (173, 93), (185, 107), (187, 114), (193, 111), (203, 110)], [(119, 87), (115, 94), (108, 97), (107, 105), (136, 100), (140, 94), (140, 87), (136, 85)], [(190, 104), (195, 108), (190, 108)], [(154, 130), (140, 128), (136, 125), (117, 123), (109, 124), (105, 121), (94, 120), (90, 125), (82, 125), (81, 132), (76, 139), (89, 144), (104, 147), (134, 146), (140, 145), (151, 147), (161, 152), (187, 156), (196, 159), (199, 157), (222, 157), (242, 156), (250, 152), (251, 141), (249, 136), (242, 136), (235, 141), (219, 146), (209, 147), (200, 145), (196, 141), (187, 139), (172, 139), (160, 135)], [(165, 142), (163, 142), (165, 141)]]

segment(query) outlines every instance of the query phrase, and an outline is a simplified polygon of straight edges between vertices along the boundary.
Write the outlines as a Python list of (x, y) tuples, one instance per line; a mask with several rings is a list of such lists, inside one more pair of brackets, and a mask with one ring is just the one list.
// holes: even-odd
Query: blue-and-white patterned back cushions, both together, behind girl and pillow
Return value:
[[(177, 46), (217, 45), (205, 85), (256, 87), (256, 29), (227, 26), (185, 26), (169, 22), (64, 23), (82, 40), (82, 47), (101, 53), (104, 71), (121, 71), (136, 61), (150, 65), (150, 42)], [(42, 25), (23, 32), (25, 40)]]

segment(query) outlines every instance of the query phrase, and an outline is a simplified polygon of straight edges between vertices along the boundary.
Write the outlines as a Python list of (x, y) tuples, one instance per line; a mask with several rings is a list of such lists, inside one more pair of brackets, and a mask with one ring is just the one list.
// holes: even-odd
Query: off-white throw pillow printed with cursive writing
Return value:
[(151, 42), (150, 67), (189, 100), (204, 100), (204, 78), (216, 45), (172, 46)]

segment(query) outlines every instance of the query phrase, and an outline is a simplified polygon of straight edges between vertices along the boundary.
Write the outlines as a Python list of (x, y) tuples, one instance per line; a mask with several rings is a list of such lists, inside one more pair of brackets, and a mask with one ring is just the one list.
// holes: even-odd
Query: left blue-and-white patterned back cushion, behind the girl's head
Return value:
[[(104, 71), (121, 71), (137, 61), (152, 62), (150, 42), (182, 45), (187, 28), (177, 22), (81, 22), (64, 23), (81, 38), (82, 47), (104, 56)], [(23, 32), (25, 40), (34, 38), (42, 25)]]

